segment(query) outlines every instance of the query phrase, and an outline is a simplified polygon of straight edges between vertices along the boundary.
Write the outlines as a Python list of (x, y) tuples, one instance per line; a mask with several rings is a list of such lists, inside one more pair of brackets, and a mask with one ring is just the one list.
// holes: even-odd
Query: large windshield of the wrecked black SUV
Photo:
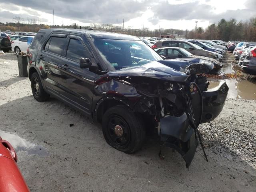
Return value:
[(142, 41), (92, 39), (103, 60), (116, 70), (163, 60)]

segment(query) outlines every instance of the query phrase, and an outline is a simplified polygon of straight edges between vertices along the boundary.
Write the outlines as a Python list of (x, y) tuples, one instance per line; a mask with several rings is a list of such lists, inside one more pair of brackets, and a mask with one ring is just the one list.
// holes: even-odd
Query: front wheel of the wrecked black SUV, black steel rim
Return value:
[(102, 132), (110, 146), (127, 154), (140, 150), (145, 139), (141, 120), (122, 105), (111, 107), (104, 113)]

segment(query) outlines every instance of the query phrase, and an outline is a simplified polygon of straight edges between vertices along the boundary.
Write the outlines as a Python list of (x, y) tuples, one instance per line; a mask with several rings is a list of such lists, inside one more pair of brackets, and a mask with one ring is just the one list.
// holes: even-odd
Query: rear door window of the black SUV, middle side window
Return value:
[[(47, 46), (49, 44), (49, 46)], [(65, 48), (66, 38), (61, 37), (51, 37), (46, 43), (45, 49), (48, 52), (61, 55), (62, 51)], [(48, 50), (47, 50), (48, 47)]]

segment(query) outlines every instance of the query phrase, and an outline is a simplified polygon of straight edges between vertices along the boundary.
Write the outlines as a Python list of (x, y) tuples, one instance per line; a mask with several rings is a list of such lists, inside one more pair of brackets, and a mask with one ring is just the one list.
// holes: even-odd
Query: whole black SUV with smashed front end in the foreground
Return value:
[(200, 123), (220, 114), (228, 86), (207, 91), (211, 63), (163, 60), (139, 38), (78, 29), (40, 30), (28, 48), (33, 96), (54, 96), (102, 122), (106, 142), (125, 153), (150, 127), (188, 167)]

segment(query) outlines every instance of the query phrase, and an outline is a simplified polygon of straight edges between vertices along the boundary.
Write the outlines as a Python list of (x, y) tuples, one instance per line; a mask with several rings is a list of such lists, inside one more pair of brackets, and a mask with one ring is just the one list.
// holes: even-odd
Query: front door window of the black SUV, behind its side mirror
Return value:
[(70, 39), (66, 57), (76, 62), (79, 62), (79, 59), (81, 57), (90, 58), (90, 54), (80, 42), (80, 40)]

